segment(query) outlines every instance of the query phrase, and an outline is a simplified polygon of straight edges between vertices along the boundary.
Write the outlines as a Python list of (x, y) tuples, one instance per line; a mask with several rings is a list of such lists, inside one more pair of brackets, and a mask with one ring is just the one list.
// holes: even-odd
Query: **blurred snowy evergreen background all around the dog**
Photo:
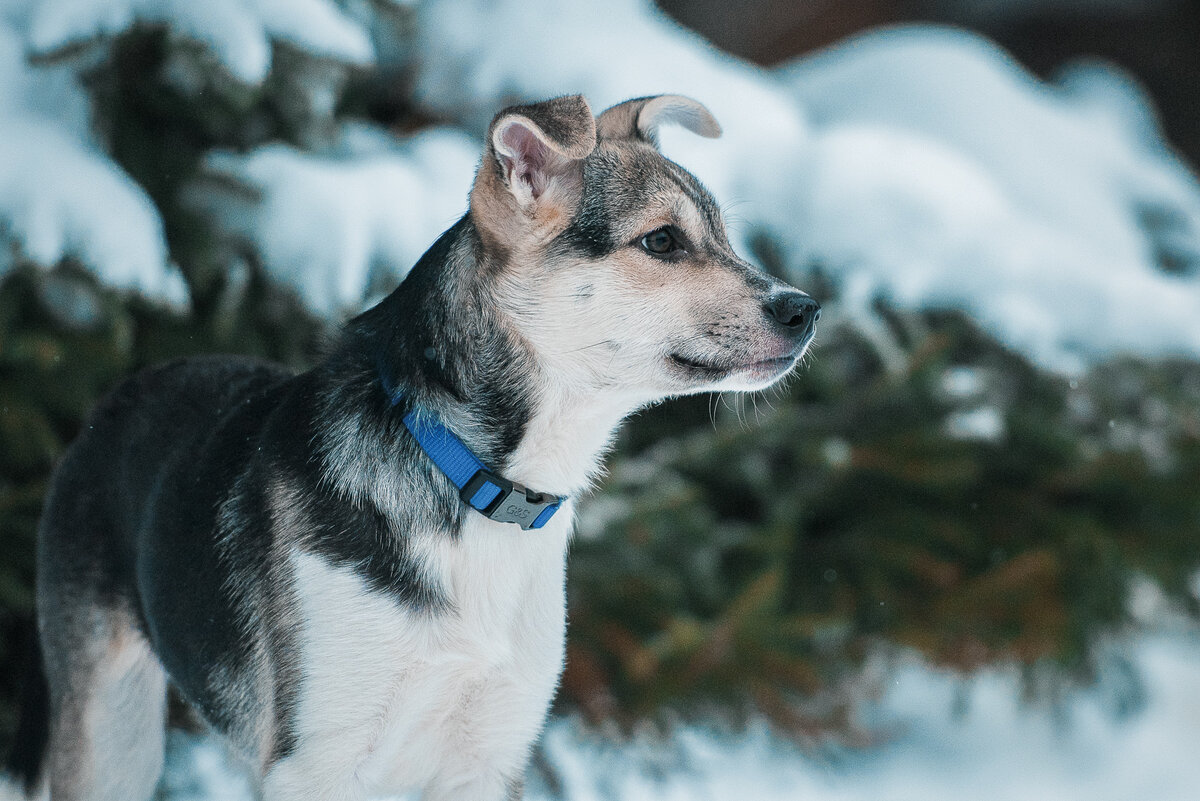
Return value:
[[(0, 0), (0, 749), (34, 532), (145, 365), (304, 369), (491, 116), (664, 150), (818, 297), (782, 391), (623, 430), (533, 797), (1194, 799), (1200, 4)], [(176, 705), (163, 799), (248, 799)]]

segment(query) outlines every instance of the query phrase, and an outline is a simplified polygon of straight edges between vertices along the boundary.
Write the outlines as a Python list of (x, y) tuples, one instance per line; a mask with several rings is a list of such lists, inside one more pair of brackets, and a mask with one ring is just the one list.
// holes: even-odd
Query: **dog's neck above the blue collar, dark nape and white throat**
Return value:
[(404, 396), (401, 408), (434, 411), (511, 481), (577, 495), (636, 404), (545, 375), (499, 315), (488, 283), (499, 266), (481, 263), (481, 249), (464, 217), (388, 299), (350, 324), (352, 342), (382, 390)]

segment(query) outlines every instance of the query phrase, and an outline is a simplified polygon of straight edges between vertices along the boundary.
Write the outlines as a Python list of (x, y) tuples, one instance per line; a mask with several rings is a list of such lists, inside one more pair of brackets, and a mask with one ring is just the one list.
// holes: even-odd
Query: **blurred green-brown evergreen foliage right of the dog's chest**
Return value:
[[(881, 643), (1086, 679), (1135, 577), (1194, 610), (1200, 367), (1068, 381), (960, 315), (893, 319), (899, 369), (844, 327), (752, 411), (634, 422), (571, 556), (565, 700), (625, 719), (749, 700), (806, 729), (821, 698), (838, 724)], [(980, 408), (1002, 430), (949, 435)]]

